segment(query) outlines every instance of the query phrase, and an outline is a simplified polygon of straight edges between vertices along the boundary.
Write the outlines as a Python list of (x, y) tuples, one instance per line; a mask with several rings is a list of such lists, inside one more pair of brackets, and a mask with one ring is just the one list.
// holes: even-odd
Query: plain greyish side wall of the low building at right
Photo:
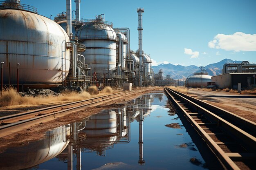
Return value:
[(227, 73), (212, 76), (211, 82), (216, 82), (217, 88), (231, 88), (231, 75)]

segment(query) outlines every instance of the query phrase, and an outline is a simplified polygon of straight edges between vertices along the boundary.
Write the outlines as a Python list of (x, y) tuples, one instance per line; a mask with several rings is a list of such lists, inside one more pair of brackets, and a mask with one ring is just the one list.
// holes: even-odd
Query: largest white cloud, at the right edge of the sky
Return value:
[(236, 32), (233, 35), (218, 34), (214, 40), (208, 42), (212, 49), (226, 51), (256, 51), (256, 34)]

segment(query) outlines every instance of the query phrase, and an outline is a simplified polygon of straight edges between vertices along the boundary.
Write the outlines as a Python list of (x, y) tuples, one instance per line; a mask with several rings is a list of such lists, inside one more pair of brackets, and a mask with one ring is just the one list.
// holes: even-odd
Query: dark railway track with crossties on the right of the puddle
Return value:
[(227, 169), (255, 169), (256, 123), (170, 88), (165, 92)]

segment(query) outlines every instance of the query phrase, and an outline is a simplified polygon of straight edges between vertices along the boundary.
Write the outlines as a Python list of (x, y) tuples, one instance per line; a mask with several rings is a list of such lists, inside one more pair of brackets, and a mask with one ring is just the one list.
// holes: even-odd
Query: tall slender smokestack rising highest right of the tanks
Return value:
[(137, 8), (137, 13), (139, 15), (139, 71), (143, 72), (143, 56), (142, 56), (142, 13), (144, 13), (144, 8)]

